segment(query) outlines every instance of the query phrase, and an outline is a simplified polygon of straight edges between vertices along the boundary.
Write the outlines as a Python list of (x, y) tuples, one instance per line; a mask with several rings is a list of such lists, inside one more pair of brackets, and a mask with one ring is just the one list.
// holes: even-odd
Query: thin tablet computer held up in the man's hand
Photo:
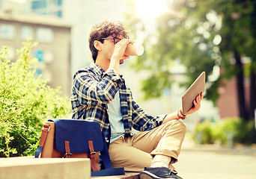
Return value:
[(205, 72), (196, 78), (193, 84), (184, 92), (182, 95), (182, 111), (183, 114), (189, 111), (191, 107), (194, 106), (193, 100), (201, 92), (205, 91)]

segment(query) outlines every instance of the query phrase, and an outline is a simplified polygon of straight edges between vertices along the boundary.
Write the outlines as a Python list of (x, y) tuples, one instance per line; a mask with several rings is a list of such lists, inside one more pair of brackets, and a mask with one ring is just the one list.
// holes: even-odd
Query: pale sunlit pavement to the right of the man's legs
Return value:
[(195, 145), (186, 136), (174, 167), (183, 179), (256, 179), (256, 146)]

